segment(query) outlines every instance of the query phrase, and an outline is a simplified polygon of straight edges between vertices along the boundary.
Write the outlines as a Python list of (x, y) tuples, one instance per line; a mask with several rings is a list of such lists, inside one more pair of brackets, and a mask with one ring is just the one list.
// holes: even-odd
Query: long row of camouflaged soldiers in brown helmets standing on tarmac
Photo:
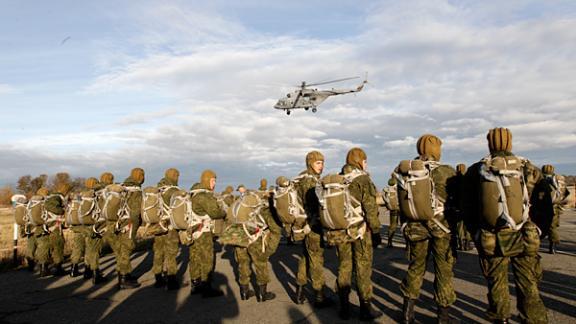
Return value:
[[(390, 210), (388, 246), (393, 246), (396, 225), (402, 223), (409, 261), (406, 276), (400, 284), (404, 298), (404, 323), (414, 322), (414, 305), (419, 298), (429, 258), (434, 263), (434, 300), (438, 322), (449, 322), (449, 309), (456, 300), (452, 270), (456, 262), (454, 246), (467, 250), (472, 241), (478, 250), (480, 266), (488, 285), (489, 318), (495, 323), (507, 323), (510, 318), (508, 265), (511, 263), (521, 320), (526, 323), (547, 322), (546, 309), (538, 289), (542, 278), (538, 247), (540, 237), (548, 235), (550, 251), (555, 251), (559, 241), (556, 227), (561, 210), (560, 202), (566, 198), (567, 193), (564, 187), (561, 199), (550, 198), (550, 184), (560, 187), (562, 179), (554, 175), (550, 165), (544, 166), (543, 172), (540, 172), (528, 160), (516, 157), (512, 153), (512, 134), (508, 129), (491, 129), (487, 140), (489, 155), (466, 170), (464, 165), (458, 165), (455, 169), (441, 164), (442, 141), (434, 135), (423, 135), (417, 142), (418, 156), (413, 160), (402, 161), (388, 183), (384, 194), (385, 206)], [(188, 269), (191, 293), (206, 298), (223, 295), (211, 283), (215, 270), (214, 242), (217, 235), (221, 235), (221, 242), (224, 243), (233, 242), (235, 236), (215, 231), (217, 226), (214, 223), (221, 221), (227, 224), (223, 226), (229, 226), (230, 215), (249, 205), (244, 198), (254, 195), (254, 201), (263, 202), (250, 211), (251, 215), (256, 213), (258, 216), (257, 230), (248, 232), (245, 225), (242, 225), (244, 227), (241, 229), (246, 231), (249, 242), (232, 244), (235, 245), (234, 255), (242, 300), (256, 296), (258, 301), (266, 301), (275, 297), (274, 293), (267, 290), (270, 282), (268, 259), (275, 253), (284, 231), (290, 242), (303, 241), (296, 275), (294, 300), (297, 304), (305, 302), (304, 290), (308, 282), (314, 290), (313, 305), (316, 308), (334, 304), (325, 295), (324, 248), (335, 246), (339, 263), (336, 292), (340, 318), (351, 317), (349, 295), (353, 281), (360, 300), (360, 320), (372, 321), (378, 318), (381, 313), (371, 306), (371, 274), (374, 266), (373, 248), (382, 242), (377, 200), (380, 194), (367, 173), (367, 155), (360, 148), (351, 149), (341, 173), (324, 178), (322, 153), (309, 152), (305, 161), (306, 170), (294, 179), (279, 177), (276, 180), (276, 189), (290, 184), (294, 186), (302, 208), (302, 217), (296, 217), (290, 223), (279, 219), (279, 211), (275, 210), (277, 204), (274, 202), (277, 191), (268, 190), (265, 181), (261, 182), (259, 190), (238, 186), (238, 196), (232, 194), (233, 188), (230, 186), (221, 194), (216, 194), (216, 173), (205, 170), (199, 182), (190, 189), (192, 214), (201, 216), (193, 228), (181, 230), (169, 221), (146, 225), (146, 233), (154, 237), (154, 286), (168, 290), (179, 288), (176, 257), (183, 243), (189, 247), (190, 252)], [(160, 192), (166, 206), (173, 204), (174, 196), (179, 192), (178, 178), (178, 170), (168, 169), (158, 183), (158, 188), (164, 188)], [(334, 179), (337, 182), (331, 181)], [(428, 198), (430, 194), (433, 196), (426, 202), (432, 210), (430, 217), (425, 216), (428, 212), (421, 205), (410, 202), (414, 199), (411, 195), (415, 196), (415, 190), (419, 190), (416, 187), (422, 185), (418, 181), (423, 179), (429, 179), (430, 182), (429, 187), (426, 187), (431, 190)], [(140, 285), (131, 274), (130, 256), (135, 247), (136, 231), (142, 224), (143, 182), (144, 170), (135, 168), (121, 184), (127, 188), (127, 217), (71, 227), (74, 233), (71, 276), (81, 275), (78, 265), (84, 258), (84, 277), (92, 278), (94, 284), (103, 282), (105, 279), (99, 270), (99, 259), (102, 246), (107, 243), (116, 259), (118, 288), (136, 288)], [(334, 183), (340, 187), (330, 187)], [(517, 183), (521, 188), (521, 197), (517, 197), (517, 192), (512, 190)], [(86, 188), (93, 191), (103, 190), (112, 184), (114, 177), (109, 172), (103, 173), (99, 180), (89, 178), (85, 183)], [(494, 187), (490, 187), (492, 184)], [(327, 201), (331, 196), (326, 194), (327, 191), (324, 196), (320, 193), (326, 187), (345, 188), (346, 196), (343, 197), (351, 201), (350, 206), (346, 205), (350, 210), (346, 211), (348, 223), (345, 227), (334, 226), (334, 219), (329, 218), (333, 211), (328, 210)], [(498, 191), (500, 196), (496, 192), (496, 198), (490, 200), (483, 195), (487, 188), (502, 191)], [(396, 196), (386, 194), (390, 191), (395, 192)], [(46, 197), (44, 206), (47, 214), (65, 214), (66, 197), (70, 196), (66, 185), (57, 186), (53, 193), (42, 188), (37, 194)], [(491, 210), (497, 211), (495, 219), (486, 217)], [(541, 224), (546, 224), (547, 228), (542, 228), (544, 225)], [(64, 240), (60, 221), (27, 226), (23, 235), (28, 238), (27, 259), (32, 270), (38, 264), (40, 276), (49, 275), (51, 258), (54, 274), (64, 274)], [(256, 275), (256, 291), (249, 287), (252, 269)]]

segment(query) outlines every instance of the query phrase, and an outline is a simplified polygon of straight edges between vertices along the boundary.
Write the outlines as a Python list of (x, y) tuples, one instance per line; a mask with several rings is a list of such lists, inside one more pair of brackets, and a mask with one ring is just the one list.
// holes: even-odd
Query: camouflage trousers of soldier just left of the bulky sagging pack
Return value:
[(188, 272), (190, 280), (208, 281), (214, 271), (214, 241), (212, 233), (204, 233), (190, 245)]

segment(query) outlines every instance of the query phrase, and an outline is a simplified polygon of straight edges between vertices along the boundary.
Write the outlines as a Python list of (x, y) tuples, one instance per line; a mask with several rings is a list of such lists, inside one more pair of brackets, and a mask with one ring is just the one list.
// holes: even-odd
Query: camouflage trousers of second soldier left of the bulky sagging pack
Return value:
[(175, 275), (178, 272), (176, 257), (180, 238), (176, 230), (169, 230), (165, 234), (154, 236), (154, 261), (152, 263), (152, 272), (157, 275), (161, 274), (166, 267), (168, 275)]

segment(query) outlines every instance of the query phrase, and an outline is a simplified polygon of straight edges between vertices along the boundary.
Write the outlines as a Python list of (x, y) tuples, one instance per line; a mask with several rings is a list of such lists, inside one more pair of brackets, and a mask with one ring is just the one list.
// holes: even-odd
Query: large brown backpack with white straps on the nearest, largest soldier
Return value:
[(480, 216), (492, 227), (521, 229), (530, 207), (524, 161), (516, 156), (488, 156), (481, 163)]

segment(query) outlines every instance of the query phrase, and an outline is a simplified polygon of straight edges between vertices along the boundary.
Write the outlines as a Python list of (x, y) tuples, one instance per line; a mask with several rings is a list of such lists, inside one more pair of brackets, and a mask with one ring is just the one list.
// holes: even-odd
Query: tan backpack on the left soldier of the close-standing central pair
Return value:
[(302, 199), (298, 196), (296, 183), (298, 178), (290, 181), (287, 186), (276, 186), (273, 203), (278, 218), (283, 224), (294, 224), (298, 218), (306, 219)]

